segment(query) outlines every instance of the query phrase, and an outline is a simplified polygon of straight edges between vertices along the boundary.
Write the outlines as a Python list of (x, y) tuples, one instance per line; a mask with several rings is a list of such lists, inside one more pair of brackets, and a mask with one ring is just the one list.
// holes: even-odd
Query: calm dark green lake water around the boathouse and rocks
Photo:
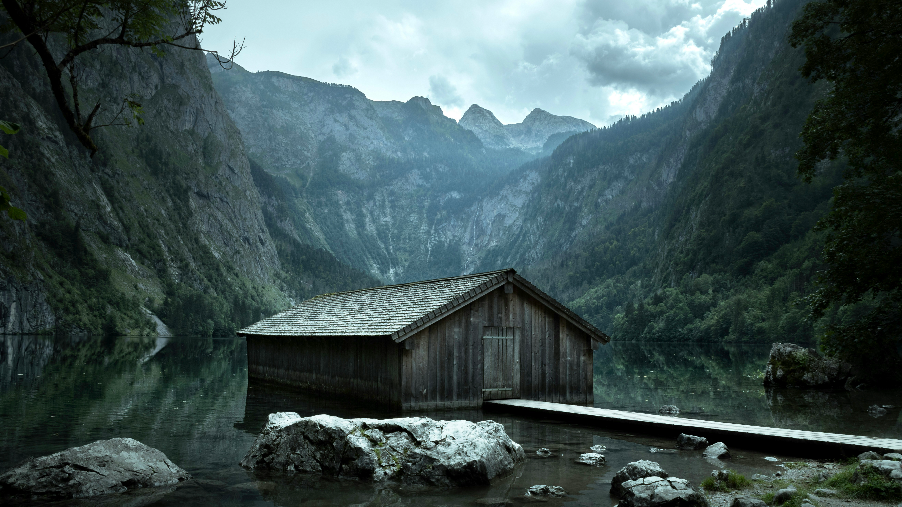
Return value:
[[(769, 346), (618, 344), (595, 354), (595, 405), (653, 412), (672, 403), (680, 417), (902, 438), (899, 409), (872, 418), (873, 403), (902, 405), (902, 392), (766, 392), (757, 372)], [(475, 505), (487, 497), (517, 502), (533, 484), (569, 493), (548, 505), (613, 505), (614, 473), (630, 461), (657, 461), (698, 484), (713, 468), (742, 474), (781, 470), (754, 449), (733, 448), (729, 463), (698, 451), (665, 450), (656, 437), (482, 410), (428, 412), (434, 419), (493, 419), (529, 455), (514, 475), (485, 487), (444, 490), (309, 475), (272, 476), (237, 466), (266, 416), (395, 417), (358, 403), (248, 382), (244, 339), (0, 336), (0, 470), (97, 439), (130, 437), (161, 449), (195, 480), (170, 490), (111, 497), (108, 505)], [(601, 444), (608, 465), (575, 457)], [(554, 454), (535, 455), (540, 447)], [(793, 456), (777, 456), (791, 460)], [(519, 502), (518, 502), (519, 503)], [(97, 505), (62, 502), (60, 505)]]

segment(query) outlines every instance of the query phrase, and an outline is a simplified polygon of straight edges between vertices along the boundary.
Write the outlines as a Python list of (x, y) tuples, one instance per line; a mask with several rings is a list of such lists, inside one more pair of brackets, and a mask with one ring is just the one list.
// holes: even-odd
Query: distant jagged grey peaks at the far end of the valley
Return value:
[(487, 147), (519, 148), (547, 154), (570, 135), (595, 128), (594, 124), (584, 120), (552, 115), (538, 107), (519, 124), (502, 124), (492, 111), (476, 104), (466, 110), (460, 125), (476, 134)]

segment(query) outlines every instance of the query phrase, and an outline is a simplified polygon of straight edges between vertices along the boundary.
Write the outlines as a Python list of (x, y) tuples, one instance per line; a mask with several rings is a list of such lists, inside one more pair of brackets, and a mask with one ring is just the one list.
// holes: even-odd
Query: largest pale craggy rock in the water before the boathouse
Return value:
[(465, 486), (489, 484), (526, 459), (492, 420), (301, 418), (270, 414), (241, 461), (251, 469)]

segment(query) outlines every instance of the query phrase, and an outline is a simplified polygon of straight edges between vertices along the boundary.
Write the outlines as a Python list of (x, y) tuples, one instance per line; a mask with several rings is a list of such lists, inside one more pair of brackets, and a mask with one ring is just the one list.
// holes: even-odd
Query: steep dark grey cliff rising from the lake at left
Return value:
[[(28, 215), (0, 220), (0, 333), (226, 334), (298, 295), (262, 214), (244, 142), (204, 56), (106, 49), (85, 60), (82, 100), (135, 94), (143, 126), (69, 132), (24, 45), (0, 60), (0, 180)], [(104, 118), (101, 118), (104, 119)], [(5, 218), (5, 217), (4, 217)]]

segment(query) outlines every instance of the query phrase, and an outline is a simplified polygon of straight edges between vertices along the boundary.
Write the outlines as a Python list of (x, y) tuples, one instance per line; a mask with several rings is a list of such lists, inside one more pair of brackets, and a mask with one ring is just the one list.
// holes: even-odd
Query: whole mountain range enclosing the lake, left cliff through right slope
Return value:
[(475, 105), (458, 124), (424, 97), (105, 54), (96, 93), (148, 114), (97, 134), (94, 160), (16, 49), (0, 104), (24, 126), (0, 185), (29, 220), (0, 223), (0, 331), (228, 333), (321, 292), (512, 266), (619, 339), (810, 340), (794, 301), (842, 162), (796, 178), (824, 90), (786, 42), (802, 0), (771, 5), (681, 100), (600, 129)]

